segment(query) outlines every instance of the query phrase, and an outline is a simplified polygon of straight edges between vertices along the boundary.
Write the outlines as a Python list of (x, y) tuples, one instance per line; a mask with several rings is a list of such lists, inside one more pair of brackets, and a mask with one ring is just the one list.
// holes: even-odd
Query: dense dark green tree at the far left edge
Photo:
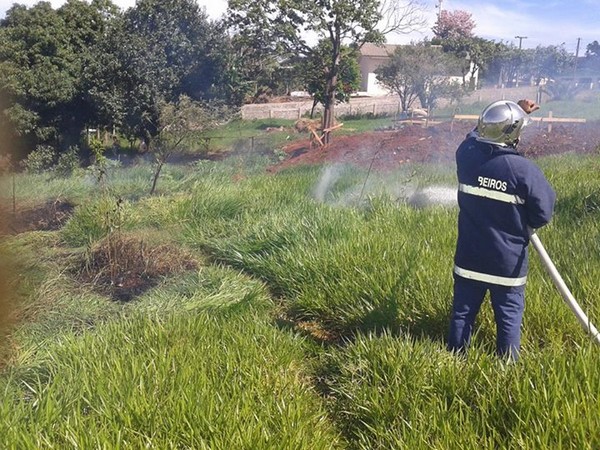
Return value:
[(92, 114), (83, 67), (103, 35), (112, 4), (69, 0), (15, 5), (0, 22), (0, 95), (7, 126), (30, 144), (68, 145)]

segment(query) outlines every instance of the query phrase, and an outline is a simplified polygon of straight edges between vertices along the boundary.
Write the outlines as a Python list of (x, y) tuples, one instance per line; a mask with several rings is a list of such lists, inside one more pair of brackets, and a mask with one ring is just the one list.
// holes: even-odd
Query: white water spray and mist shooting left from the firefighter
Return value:
[(353, 169), (343, 164), (323, 168), (313, 191), (314, 198), (333, 206), (357, 206), (372, 196), (389, 196), (414, 208), (431, 206), (455, 207), (456, 188), (417, 182), (413, 173), (395, 173), (382, 177), (372, 172), (362, 181)]

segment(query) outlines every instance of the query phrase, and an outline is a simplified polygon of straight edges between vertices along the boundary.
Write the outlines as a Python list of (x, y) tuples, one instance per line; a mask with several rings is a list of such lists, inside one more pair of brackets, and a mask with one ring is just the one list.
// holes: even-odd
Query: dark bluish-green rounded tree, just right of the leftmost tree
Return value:
[(112, 23), (86, 72), (101, 124), (149, 144), (160, 105), (225, 98), (226, 41), (194, 0), (138, 1)]

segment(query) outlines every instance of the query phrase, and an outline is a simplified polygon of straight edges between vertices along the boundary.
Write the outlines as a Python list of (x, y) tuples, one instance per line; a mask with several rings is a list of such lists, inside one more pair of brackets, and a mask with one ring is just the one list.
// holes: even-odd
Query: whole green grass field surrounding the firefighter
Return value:
[[(102, 189), (85, 172), (16, 177), (19, 205), (76, 208), (1, 241), (4, 448), (600, 447), (600, 349), (533, 253), (521, 360), (494, 356), (489, 304), (468, 355), (446, 352), (457, 211), (399, 193), (453, 186), (453, 167), (371, 174), (363, 191), (366, 170), (267, 174), (276, 158), (168, 165), (153, 197), (144, 165)], [(558, 194), (540, 238), (598, 325), (600, 159), (538, 163)], [(118, 252), (124, 237), (139, 253)], [(102, 245), (107, 270), (155, 247), (194, 265), (117, 301), (81, 281)]]

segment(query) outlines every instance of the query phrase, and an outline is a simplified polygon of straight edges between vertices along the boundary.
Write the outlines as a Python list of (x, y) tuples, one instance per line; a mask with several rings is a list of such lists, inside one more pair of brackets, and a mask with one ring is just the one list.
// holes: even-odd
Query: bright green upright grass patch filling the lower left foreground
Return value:
[(341, 448), (301, 359), (252, 313), (134, 317), (15, 372), (0, 434), (15, 448)]

